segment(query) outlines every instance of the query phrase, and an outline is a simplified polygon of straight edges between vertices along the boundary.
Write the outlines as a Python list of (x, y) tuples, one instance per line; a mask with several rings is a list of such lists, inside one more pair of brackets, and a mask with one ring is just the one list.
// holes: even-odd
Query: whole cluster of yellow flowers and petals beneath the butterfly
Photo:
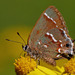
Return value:
[[(15, 71), (17, 75), (74, 75), (75, 58), (69, 60), (65, 67), (56, 66), (57, 70), (51, 70), (43, 66), (37, 66), (36, 61), (29, 56), (15, 60)], [(37, 66), (37, 68), (36, 68)]]

